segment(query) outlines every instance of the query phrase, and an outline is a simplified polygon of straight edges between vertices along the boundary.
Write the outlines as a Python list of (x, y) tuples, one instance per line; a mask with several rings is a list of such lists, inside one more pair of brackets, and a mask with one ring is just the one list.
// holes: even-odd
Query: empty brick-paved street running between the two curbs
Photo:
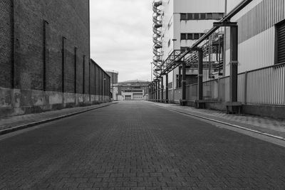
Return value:
[(0, 140), (0, 189), (285, 189), (285, 148), (147, 102)]

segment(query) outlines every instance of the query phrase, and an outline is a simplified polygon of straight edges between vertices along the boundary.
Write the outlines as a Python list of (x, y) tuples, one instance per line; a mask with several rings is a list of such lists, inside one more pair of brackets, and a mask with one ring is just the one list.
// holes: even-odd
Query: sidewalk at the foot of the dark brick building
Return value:
[(63, 110), (55, 110), (49, 112), (41, 112), (27, 115), (16, 115), (12, 117), (0, 118), (0, 134), (6, 134), (16, 130), (21, 130), (34, 125), (39, 125), (45, 122), (58, 120), (63, 117), (76, 115), (81, 112), (87, 112), (89, 110), (95, 110), (100, 107), (115, 104), (116, 102), (108, 102), (100, 105), (90, 105), (86, 107), (73, 107)]

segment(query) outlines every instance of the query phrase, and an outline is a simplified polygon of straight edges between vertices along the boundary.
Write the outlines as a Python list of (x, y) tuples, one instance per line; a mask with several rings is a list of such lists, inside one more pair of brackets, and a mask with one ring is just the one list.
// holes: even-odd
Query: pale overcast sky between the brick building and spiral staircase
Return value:
[(150, 80), (152, 0), (90, 0), (91, 58), (119, 81)]

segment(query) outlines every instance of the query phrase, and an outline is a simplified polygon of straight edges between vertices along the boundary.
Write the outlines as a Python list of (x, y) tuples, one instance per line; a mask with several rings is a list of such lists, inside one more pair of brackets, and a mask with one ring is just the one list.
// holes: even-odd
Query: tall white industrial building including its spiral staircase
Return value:
[[(159, 75), (160, 65), (169, 56), (175, 56), (192, 46), (204, 33), (212, 27), (212, 23), (224, 16), (224, 0), (183, 0), (155, 1), (154, 7), (154, 72)], [(220, 61), (220, 65), (222, 61)], [(206, 69), (206, 68), (205, 68)], [(174, 90), (182, 86), (181, 65), (171, 70), (165, 84), (174, 98)], [(211, 69), (211, 71), (213, 71)], [(209, 78), (204, 70), (204, 78)], [(166, 80), (163, 75), (161, 80)], [(196, 83), (197, 69), (187, 68), (187, 84)]]

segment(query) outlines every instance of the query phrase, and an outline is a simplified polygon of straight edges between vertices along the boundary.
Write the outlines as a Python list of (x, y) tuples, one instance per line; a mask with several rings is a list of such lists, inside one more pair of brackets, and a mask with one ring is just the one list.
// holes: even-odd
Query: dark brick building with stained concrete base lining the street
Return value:
[(0, 6), (0, 113), (109, 100), (110, 77), (90, 60), (88, 0)]

